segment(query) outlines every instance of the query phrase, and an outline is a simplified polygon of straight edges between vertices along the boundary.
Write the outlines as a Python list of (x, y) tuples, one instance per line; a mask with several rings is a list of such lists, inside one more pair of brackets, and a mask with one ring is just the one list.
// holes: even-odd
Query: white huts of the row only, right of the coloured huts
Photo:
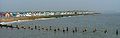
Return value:
[(22, 16), (50, 16), (50, 15), (66, 15), (66, 14), (89, 14), (94, 13), (90, 11), (33, 11), (23, 12), (23, 14), (17, 14), (16, 17)]

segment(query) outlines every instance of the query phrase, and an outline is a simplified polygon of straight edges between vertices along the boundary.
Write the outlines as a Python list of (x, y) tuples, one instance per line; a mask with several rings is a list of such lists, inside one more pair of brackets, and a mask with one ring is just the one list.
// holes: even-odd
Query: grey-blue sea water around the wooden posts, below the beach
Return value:
[[(120, 38), (120, 13), (103, 13), (98, 15), (79, 15), (47, 20), (34, 20), (10, 23), (19, 26), (40, 26), (54, 30), (29, 30), (0, 28), (0, 38)], [(68, 31), (63, 29), (68, 27)], [(73, 32), (74, 28), (77, 32)], [(96, 28), (96, 32), (93, 30)], [(83, 29), (87, 29), (83, 32)], [(107, 30), (104, 33), (104, 30)], [(116, 34), (118, 30), (118, 34)]]

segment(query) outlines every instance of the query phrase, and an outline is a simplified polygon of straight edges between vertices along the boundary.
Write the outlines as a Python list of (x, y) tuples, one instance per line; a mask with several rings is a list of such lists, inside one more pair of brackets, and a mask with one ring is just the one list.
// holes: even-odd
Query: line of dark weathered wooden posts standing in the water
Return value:
[[(53, 31), (53, 32), (72, 32), (72, 33), (82, 33), (82, 32), (90, 32), (89, 29), (87, 28), (82, 28), (82, 30), (79, 29), (79, 27), (55, 27), (55, 26), (22, 26), (22, 25), (2, 25), (0, 24), (0, 28), (5, 27), (6, 29), (12, 28), (12, 29), (29, 29), (29, 30), (40, 30), (40, 31)], [(109, 31), (107, 29), (104, 30), (98, 30), (98, 29), (93, 29), (91, 31), (92, 33), (95, 32), (103, 32), (107, 34)], [(119, 35), (118, 29), (115, 31), (116, 35)]]

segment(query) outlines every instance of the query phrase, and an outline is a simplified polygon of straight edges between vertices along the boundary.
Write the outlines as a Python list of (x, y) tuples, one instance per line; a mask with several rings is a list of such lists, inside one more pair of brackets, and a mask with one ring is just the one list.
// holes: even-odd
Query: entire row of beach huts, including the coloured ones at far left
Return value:
[(72, 15), (93, 14), (93, 11), (27, 11), (27, 12), (0, 12), (0, 17), (25, 17), (25, 16), (50, 16), (50, 15)]

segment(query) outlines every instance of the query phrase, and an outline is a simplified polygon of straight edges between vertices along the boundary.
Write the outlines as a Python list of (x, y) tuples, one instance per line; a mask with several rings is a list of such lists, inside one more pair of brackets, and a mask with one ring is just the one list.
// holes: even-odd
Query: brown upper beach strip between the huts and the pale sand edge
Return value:
[(78, 16), (79, 14), (70, 14), (70, 15), (49, 15), (49, 16), (26, 16), (26, 17), (9, 17), (2, 18), (0, 22), (12, 22), (18, 20), (35, 20), (40, 18), (59, 18), (59, 17), (68, 17), (68, 16)]

